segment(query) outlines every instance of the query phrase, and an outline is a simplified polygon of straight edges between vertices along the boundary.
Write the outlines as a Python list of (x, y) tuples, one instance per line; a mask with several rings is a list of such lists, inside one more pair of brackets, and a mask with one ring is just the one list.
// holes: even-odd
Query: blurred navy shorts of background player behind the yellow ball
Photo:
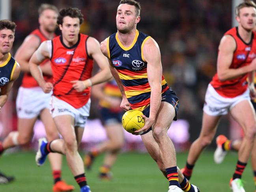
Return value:
[(112, 112), (109, 108), (101, 108), (101, 121), (103, 125), (109, 123), (121, 123), (124, 112)]

